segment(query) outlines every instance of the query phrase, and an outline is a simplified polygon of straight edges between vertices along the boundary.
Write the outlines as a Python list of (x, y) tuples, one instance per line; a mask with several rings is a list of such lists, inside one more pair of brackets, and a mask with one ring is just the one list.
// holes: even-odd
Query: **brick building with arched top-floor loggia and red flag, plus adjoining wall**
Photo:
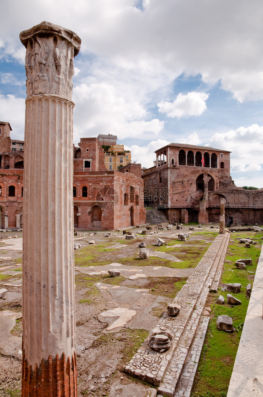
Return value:
[(162, 209), (170, 222), (219, 222), (223, 198), (226, 224), (263, 223), (263, 189), (235, 186), (228, 150), (170, 143), (155, 153), (142, 175), (145, 204)]

